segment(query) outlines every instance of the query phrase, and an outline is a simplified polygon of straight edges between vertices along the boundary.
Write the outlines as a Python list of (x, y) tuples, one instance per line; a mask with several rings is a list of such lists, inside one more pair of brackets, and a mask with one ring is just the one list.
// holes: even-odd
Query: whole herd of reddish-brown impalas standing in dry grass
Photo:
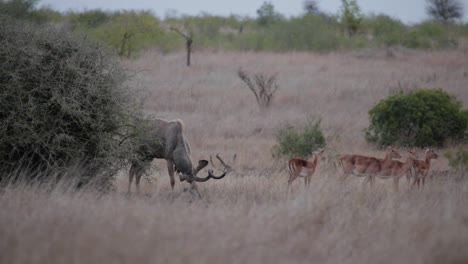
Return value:
[[(291, 183), (298, 177), (303, 177), (305, 185), (309, 186), (310, 178), (317, 168), (319, 155), (323, 150), (315, 151), (310, 160), (292, 158), (288, 161), (289, 180), (288, 190)], [(365, 177), (363, 184), (374, 185), (375, 178), (393, 179), (394, 188), (398, 191), (398, 182), (403, 175), (406, 175), (408, 185), (412, 187), (424, 185), (425, 179), (431, 166), (431, 160), (437, 159), (438, 155), (433, 149), (426, 149), (425, 158), (418, 159), (415, 149), (407, 150), (408, 157), (405, 162), (395, 160), (401, 158), (401, 154), (392, 147), (388, 147), (383, 159), (363, 156), (357, 154), (347, 154), (340, 158), (343, 174), (340, 179), (344, 181), (350, 174), (357, 177)], [(411, 184), (411, 178), (413, 183)]]

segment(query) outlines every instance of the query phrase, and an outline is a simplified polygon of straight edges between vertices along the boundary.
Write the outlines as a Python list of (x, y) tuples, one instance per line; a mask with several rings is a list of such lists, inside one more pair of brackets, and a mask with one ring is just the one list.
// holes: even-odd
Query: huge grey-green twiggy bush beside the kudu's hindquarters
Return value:
[(123, 68), (83, 37), (0, 22), (0, 181), (77, 164), (82, 182), (111, 179), (126, 157), (122, 129), (138, 114)]

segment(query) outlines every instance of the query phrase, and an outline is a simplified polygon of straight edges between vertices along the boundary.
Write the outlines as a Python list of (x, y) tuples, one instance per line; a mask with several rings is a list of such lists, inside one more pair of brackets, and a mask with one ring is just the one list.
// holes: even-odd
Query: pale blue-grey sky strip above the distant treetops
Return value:
[[(151, 10), (164, 18), (173, 11), (176, 14), (199, 15), (202, 12), (213, 15), (241, 15), (256, 17), (256, 10), (265, 0), (39, 0), (39, 6), (48, 5), (58, 11), (102, 10)], [(275, 10), (285, 16), (297, 16), (303, 13), (303, 0), (270, 0)], [(318, 0), (319, 8), (329, 14), (337, 14), (341, 0)], [(364, 14), (384, 13), (404, 23), (417, 23), (428, 18), (426, 0), (357, 0)], [(468, 0), (460, 0), (464, 7), (463, 21), (468, 21)]]

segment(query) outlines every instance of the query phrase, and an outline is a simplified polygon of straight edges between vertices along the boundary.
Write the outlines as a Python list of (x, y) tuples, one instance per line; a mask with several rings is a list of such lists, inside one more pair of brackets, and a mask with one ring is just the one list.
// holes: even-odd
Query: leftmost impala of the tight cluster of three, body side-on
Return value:
[(383, 159), (356, 154), (343, 155), (340, 158), (340, 163), (343, 167), (341, 180), (346, 180), (350, 174), (358, 177), (365, 176), (368, 179), (366, 179), (363, 184), (370, 181), (370, 185), (373, 186), (376, 174), (388, 169), (391, 166), (392, 159), (394, 158), (401, 158), (401, 155), (392, 147), (387, 148), (385, 158)]

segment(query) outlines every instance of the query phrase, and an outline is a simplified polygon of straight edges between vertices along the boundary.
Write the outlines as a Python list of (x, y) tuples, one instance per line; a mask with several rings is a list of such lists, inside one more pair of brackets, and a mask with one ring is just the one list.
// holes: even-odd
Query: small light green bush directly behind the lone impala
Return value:
[(275, 158), (306, 158), (326, 145), (320, 120), (308, 121), (302, 131), (291, 127), (280, 129), (276, 134), (276, 141), (277, 144), (272, 149)]

